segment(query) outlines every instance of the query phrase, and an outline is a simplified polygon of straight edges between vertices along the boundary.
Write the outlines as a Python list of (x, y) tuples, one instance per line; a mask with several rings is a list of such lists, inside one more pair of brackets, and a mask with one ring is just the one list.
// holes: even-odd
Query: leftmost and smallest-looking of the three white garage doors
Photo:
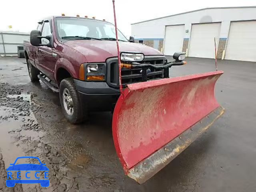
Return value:
[(164, 54), (173, 55), (182, 51), (184, 38), (184, 25), (166, 26), (164, 39)]

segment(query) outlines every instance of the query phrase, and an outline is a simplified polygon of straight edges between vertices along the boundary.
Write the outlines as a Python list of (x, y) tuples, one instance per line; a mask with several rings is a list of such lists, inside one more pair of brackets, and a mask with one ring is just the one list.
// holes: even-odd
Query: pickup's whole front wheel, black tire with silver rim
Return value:
[(64, 116), (72, 124), (78, 124), (85, 120), (86, 110), (82, 108), (72, 78), (66, 78), (60, 82), (60, 104)]

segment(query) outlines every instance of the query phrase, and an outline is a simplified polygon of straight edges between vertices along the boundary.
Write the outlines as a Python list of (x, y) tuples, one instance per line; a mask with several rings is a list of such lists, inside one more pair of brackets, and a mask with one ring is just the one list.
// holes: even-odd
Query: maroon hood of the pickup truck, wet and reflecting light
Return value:
[[(116, 41), (107, 40), (68, 40), (64, 42), (86, 57), (86, 62), (105, 62), (117, 57)], [(120, 52), (140, 52), (144, 55), (163, 55), (160, 51), (140, 43), (119, 41)]]

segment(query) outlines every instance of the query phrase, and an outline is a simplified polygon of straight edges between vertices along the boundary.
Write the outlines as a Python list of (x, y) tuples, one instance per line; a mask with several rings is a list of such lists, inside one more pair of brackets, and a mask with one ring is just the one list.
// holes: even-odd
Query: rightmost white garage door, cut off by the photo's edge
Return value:
[(256, 21), (231, 22), (225, 59), (256, 61)]

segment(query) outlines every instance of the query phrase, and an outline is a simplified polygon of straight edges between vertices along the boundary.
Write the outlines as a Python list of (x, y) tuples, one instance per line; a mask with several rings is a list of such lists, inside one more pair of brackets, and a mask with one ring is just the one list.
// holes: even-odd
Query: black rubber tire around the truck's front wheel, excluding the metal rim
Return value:
[[(64, 107), (63, 92), (65, 89), (68, 89), (68, 92), (72, 98), (73, 114), (68, 114)], [(78, 124), (86, 120), (87, 111), (83, 108), (83, 105), (80, 101), (79, 94), (76, 90), (73, 78), (66, 78), (60, 82), (60, 104), (62, 112), (65, 118), (72, 124)]]

